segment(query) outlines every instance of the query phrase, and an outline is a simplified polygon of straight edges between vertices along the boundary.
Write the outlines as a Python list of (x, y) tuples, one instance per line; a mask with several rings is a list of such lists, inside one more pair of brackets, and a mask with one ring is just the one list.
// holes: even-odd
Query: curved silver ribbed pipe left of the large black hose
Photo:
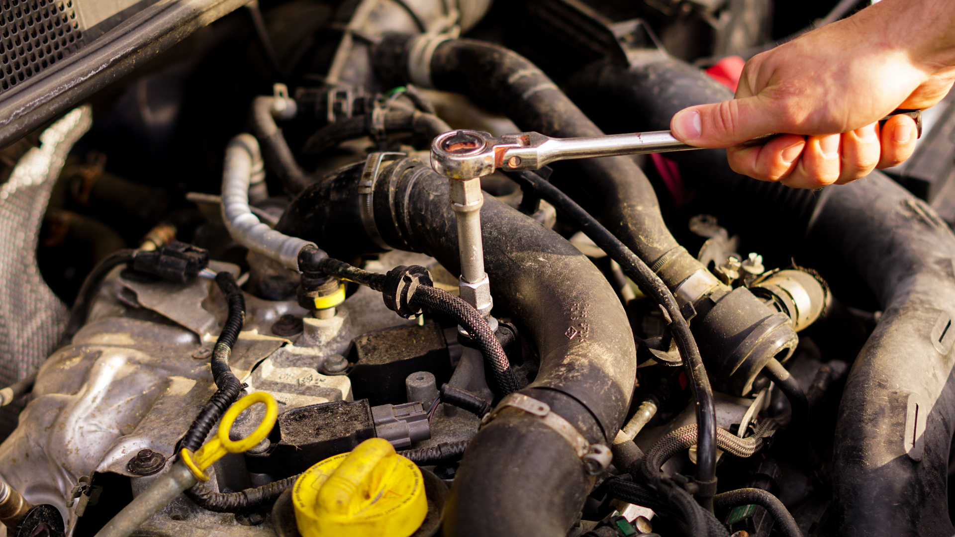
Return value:
[(250, 250), (275, 259), (286, 268), (298, 270), (298, 253), (313, 243), (289, 237), (263, 224), (248, 205), (248, 188), (253, 171), (262, 169), (259, 142), (241, 134), (225, 148), (223, 169), (223, 221), (235, 241)]

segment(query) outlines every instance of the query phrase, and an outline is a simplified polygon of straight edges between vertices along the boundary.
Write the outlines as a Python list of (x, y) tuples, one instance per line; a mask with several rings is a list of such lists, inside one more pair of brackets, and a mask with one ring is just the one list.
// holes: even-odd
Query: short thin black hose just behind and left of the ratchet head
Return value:
[[(386, 133), (414, 132), (429, 138), (435, 138), (437, 135), (451, 130), (451, 127), (443, 119), (416, 110), (386, 112), (384, 127)], [(302, 152), (317, 155), (343, 141), (354, 140), (369, 134), (371, 134), (369, 132), (369, 120), (366, 116), (340, 119), (322, 127), (308, 137), (308, 140), (302, 146)]]

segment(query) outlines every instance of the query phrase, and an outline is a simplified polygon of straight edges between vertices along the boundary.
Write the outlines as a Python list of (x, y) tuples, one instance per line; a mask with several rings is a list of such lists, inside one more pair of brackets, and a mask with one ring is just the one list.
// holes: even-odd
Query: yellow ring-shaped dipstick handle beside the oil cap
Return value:
[[(262, 419), (259, 426), (252, 431), (251, 435), (241, 440), (230, 440), (229, 430), (232, 429), (232, 424), (235, 423), (236, 418), (239, 418), (240, 414), (257, 403), (265, 404), (265, 418)], [(259, 442), (265, 440), (265, 437), (272, 432), (272, 427), (275, 426), (275, 420), (278, 419), (278, 417), (279, 405), (275, 402), (275, 397), (265, 392), (249, 394), (236, 401), (225, 411), (223, 420), (219, 424), (219, 431), (216, 433), (216, 438), (209, 440), (209, 442), (199, 448), (196, 453), (182, 448), (180, 451), (182, 462), (185, 462), (185, 465), (192, 470), (193, 475), (199, 480), (209, 481), (208, 476), (205, 475), (206, 468), (211, 466), (213, 462), (222, 459), (226, 453), (243, 453), (258, 445)]]

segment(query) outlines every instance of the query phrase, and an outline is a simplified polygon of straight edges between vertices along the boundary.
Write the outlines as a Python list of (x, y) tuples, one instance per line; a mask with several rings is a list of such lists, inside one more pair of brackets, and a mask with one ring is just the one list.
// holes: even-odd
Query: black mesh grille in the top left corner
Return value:
[(74, 0), (0, 0), (0, 94), (83, 46)]

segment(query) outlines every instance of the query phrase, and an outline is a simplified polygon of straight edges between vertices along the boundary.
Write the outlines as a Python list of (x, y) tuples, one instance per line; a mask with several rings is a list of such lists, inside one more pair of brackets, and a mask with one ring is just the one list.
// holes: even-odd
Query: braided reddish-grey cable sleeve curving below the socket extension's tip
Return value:
[(504, 354), (504, 349), (491, 331), (487, 320), (474, 307), (446, 290), (429, 286), (418, 286), (409, 302), (418, 307), (441, 311), (455, 318), (457, 324), (477, 342), (477, 347), (484, 355), (484, 361), (494, 373), (500, 394), (506, 395), (517, 391), (518, 381), (511, 369), (511, 362), (507, 360), (507, 354)]

